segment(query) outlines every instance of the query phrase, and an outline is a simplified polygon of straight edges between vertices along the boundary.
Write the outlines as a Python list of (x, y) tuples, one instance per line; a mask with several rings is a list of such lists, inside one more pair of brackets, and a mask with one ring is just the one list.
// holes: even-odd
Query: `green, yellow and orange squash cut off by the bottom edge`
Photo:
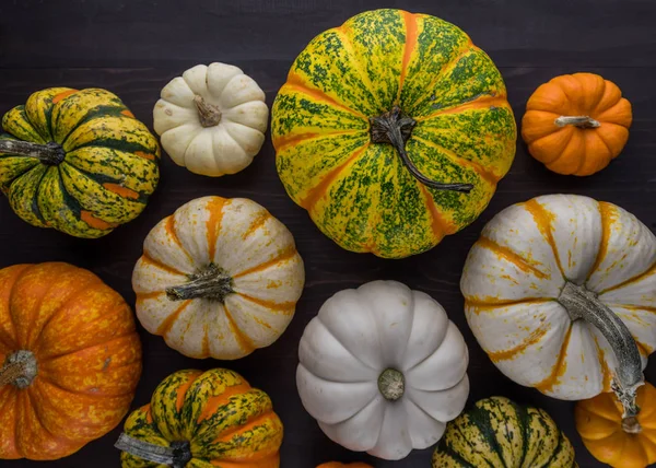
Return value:
[(122, 468), (278, 468), (282, 435), (267, 394), (237, 373), (178, 371), (128, 417), (116, 447)]

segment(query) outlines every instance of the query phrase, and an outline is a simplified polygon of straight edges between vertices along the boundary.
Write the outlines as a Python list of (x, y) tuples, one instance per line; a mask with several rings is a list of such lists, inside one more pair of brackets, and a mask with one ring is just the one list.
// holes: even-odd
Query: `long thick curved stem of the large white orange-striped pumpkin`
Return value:
[(644, 385), (645, 379), (640, 351), (629, 328), (585, 286), (567, 281), (558, 302), (565, 307), (572, 320), (583, 318), (604, 335), (618, 360), (611, 387), (624, 409), (622, 418), (637, 416), (637, 388)]

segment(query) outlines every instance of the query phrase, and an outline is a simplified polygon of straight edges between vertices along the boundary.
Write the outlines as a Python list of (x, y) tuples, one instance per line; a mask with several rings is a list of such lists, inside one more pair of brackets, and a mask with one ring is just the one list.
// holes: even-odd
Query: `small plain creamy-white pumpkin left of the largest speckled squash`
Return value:
[(153, 110), (155, 131), (173, 161), (192, 173), (238, 173), (265, 142), (265, 93), (237, 67), (198, 65), (174, 78), (161, 97)]

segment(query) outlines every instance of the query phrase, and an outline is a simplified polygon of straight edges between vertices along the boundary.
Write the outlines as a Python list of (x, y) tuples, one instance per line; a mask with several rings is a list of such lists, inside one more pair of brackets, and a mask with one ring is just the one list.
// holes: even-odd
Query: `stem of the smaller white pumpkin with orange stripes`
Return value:
[(179, 286), (166, 288), (166, 295), (172, 301), (189, 299), (209, 299), (223, 303), (225, 296), (234, 293), (233, 279), (223, 269), (211, 264), (207, 269), (189, 276), (189, 282)]

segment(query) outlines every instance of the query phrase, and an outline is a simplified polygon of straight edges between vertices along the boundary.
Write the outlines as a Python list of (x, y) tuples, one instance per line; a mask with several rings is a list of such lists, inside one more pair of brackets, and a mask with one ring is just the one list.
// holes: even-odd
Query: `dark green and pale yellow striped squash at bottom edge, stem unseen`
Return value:
[(433, 468), (576, 468), (570, 440), (542, 409), (504, 397), (477, 401), (449, 422)]

